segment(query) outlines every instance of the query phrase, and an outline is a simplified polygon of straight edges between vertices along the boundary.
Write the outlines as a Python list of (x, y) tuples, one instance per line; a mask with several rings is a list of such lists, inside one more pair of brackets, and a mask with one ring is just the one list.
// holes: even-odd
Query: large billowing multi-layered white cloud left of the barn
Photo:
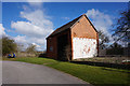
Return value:
[(26, 20), (11, 23), (11, 27), (22, 34), (17, 35), (15, 41), (22, 41), (23, 44), (35, 43), (42, 46), (41, 48), (38, 47), (39, 49), (46, 49), (46, 38), (53, 31), (53, 23), (50, 20), (50, 16), (39, 8), (32, 10), (32, 6), (24, 5), (23, 9), (24, 11), (20, 13), (20, 16)]

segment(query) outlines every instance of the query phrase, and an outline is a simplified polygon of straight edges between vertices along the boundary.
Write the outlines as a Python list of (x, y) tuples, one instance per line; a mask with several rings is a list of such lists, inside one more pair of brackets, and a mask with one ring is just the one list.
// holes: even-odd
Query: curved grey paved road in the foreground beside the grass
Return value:
[(18, 61), (2, 61), (3, 84), (87, 84), (55, 69)]

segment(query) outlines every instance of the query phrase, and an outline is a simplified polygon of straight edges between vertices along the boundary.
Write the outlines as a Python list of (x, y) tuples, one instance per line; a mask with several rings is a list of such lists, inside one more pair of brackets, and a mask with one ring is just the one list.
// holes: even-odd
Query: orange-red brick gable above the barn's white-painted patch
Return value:
[(72, 28), (72, 35), (78, 38), (88, 38), (88, 39), (96, 39), (96, 31), (93, 29), (91, 24), (88, 22), (86, 16)]

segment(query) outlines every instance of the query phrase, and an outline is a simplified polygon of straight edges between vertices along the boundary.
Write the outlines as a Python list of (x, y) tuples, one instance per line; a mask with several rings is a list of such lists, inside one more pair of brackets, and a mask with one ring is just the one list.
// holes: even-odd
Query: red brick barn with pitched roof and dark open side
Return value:
[(47, 38), (47, 57), (65, 60), (66, 46), (70, 49), (70, 60), (98, 56), (99, 34), (86, 14), (57, 28)]

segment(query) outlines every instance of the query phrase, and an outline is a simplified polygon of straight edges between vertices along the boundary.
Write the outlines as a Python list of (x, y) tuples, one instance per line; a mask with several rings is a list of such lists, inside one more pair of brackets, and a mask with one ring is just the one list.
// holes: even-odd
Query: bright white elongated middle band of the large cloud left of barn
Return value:
[(16, 32), (20, 32), (22, 34), (25, 34), (27, 37), (47, 37), (50, 32), (52, 32), (52, 29), (46, 29), (41, 28), (39, 26), (32, 25), (29, 22), (16, 22), (12, 23), (11, 25), (12, 28), (15, 28)]

